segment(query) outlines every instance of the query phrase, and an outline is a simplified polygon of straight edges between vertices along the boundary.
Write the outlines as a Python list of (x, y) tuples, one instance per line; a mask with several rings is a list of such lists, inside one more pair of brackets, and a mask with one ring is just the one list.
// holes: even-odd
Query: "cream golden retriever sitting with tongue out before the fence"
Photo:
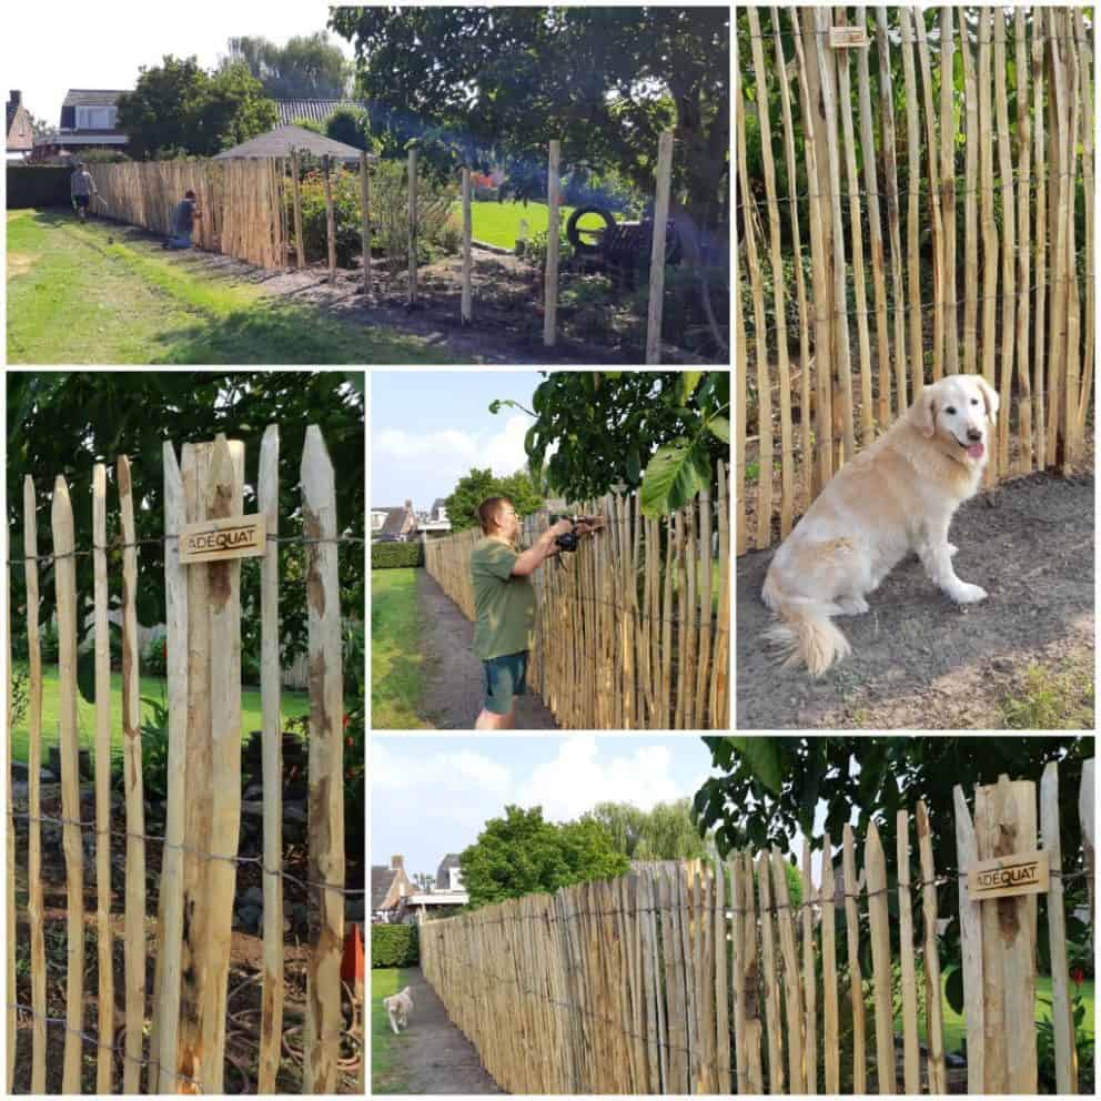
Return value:
[(956, 576), (948, 525), (979, 487), (998, 404), (980, 375), (941, 378), (830, 479), (765, 577), (761, 596), (779, 620), (765, 639), (785, 666), (801, 661), (819, 676), (845, 657), (831, 617), (867, 612), (865, 597), (911, 550), (957, 604), (986, 599)]

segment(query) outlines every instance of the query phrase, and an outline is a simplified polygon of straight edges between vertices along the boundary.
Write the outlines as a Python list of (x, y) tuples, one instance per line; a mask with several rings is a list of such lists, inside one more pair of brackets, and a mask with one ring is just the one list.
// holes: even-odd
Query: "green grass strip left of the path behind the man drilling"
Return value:
[(420, 714), (424, 651), (417, 570), (371, 570), (371, 726), (375, 730), (430, 727)]

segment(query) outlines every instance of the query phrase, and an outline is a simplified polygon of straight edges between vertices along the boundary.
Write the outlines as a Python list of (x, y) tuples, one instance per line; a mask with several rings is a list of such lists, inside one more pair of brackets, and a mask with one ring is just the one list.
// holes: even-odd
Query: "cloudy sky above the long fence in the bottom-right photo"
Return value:
[(645, 734), (374, 735), (371, 859), (435, 875), (441, 859), (477, 840), (506, 804), (542, 806), (567, 821), (613, 800), (644, 809), (696, 794), (711, 755), (696, 736)]

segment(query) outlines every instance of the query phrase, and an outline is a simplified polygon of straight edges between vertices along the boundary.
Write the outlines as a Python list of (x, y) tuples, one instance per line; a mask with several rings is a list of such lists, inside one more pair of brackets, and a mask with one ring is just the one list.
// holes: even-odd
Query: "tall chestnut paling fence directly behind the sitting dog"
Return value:
[(737, 553), (784, 538), (945, 374), (1000, 394), (988, 484), (1071, 472), (1093, 386), (1092, 13), (738, 19)]

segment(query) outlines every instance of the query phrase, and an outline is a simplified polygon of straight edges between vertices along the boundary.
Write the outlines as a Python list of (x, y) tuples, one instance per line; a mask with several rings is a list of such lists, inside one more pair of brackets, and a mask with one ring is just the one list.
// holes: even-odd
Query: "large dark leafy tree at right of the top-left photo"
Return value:
[(486, 166), (522, 193), (563, 166), (615, 168), (653, 193), (658, 134), (671, 127), (675, 183), (700, 225), (727, 221), (729, 9), (334, 8), (355, 46), (376, 124)]

